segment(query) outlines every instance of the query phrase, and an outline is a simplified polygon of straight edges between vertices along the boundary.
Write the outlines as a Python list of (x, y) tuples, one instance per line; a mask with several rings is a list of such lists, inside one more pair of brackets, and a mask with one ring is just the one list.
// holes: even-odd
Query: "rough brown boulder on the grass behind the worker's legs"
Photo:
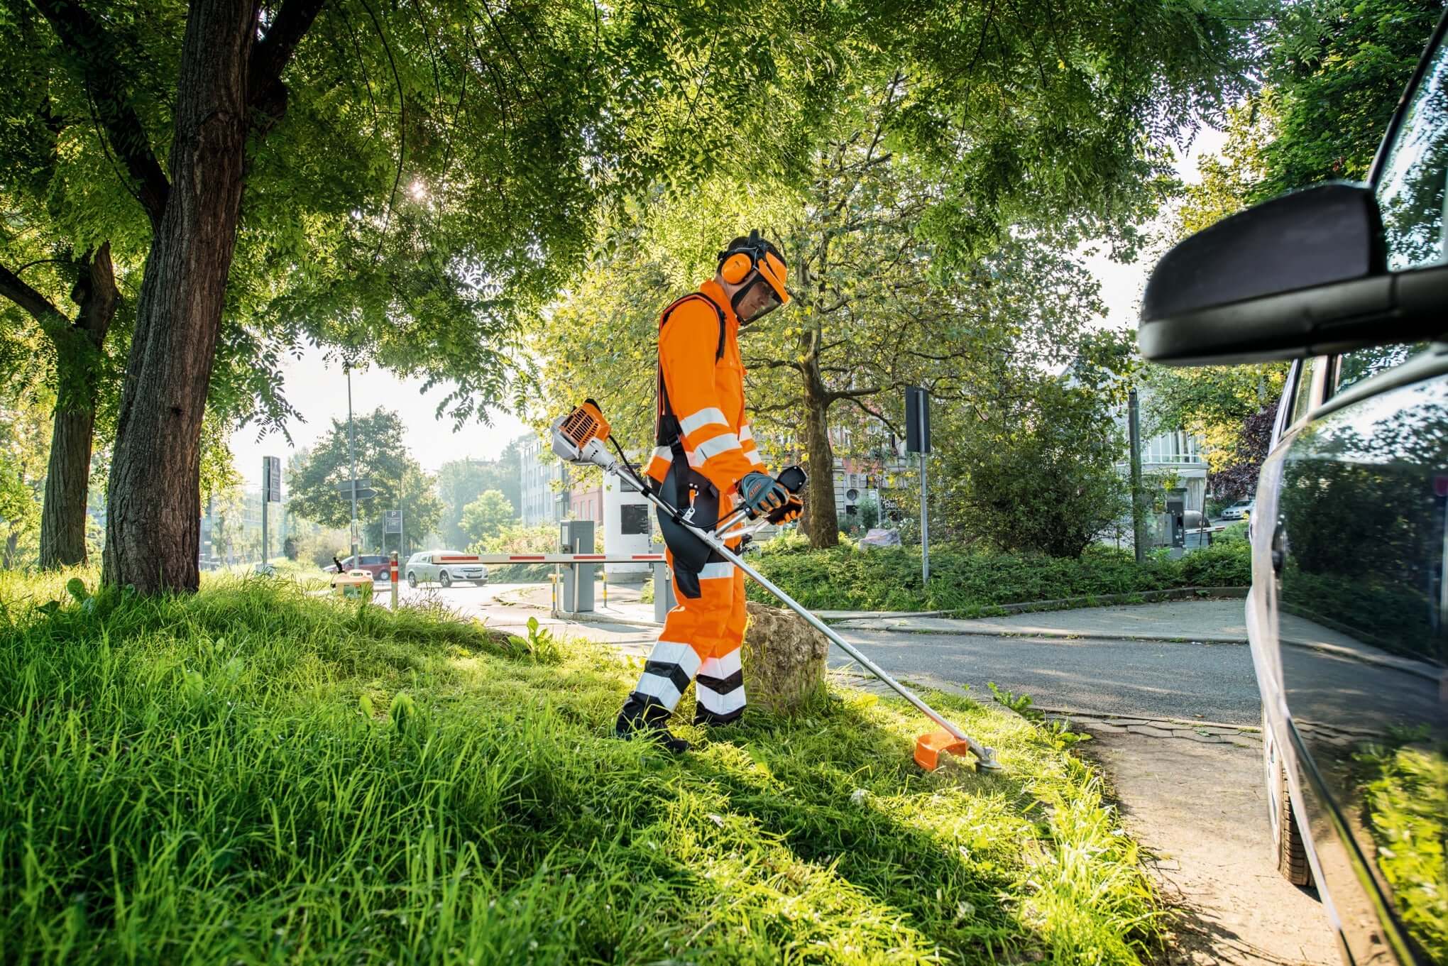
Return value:
[(830, 642), (794, 611), (754, 601), (747, 607), (744, 694), (752, 705), (792, 714), (824, 685)]

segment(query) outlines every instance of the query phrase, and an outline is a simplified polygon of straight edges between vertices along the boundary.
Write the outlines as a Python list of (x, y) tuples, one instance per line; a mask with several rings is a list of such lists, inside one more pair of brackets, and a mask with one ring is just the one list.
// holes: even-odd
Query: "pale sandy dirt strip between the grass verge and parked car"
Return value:
[(1177, 910), (1164, 966), (1339, 962), (1316, 892), (1277, 873), (1255, 742), (1118, 733), (1077, 747), (1109, 775), (1127, 828)]

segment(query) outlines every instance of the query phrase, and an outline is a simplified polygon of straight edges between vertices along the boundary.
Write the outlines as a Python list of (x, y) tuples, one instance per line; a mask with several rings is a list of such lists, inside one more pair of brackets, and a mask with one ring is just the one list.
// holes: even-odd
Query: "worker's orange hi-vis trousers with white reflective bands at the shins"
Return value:
[[(673, 555), (668, 553), (669, 568)], [(672, 713), (695, 684), (695, 724), (728, 724), (744, 713), (744, 671), (738, 662), (744, 642), (744, 572), (728, 560), (699, 572), (699, 597), (685, 597), (673, 581), (679, 604), (663, 621), (633, 697)], [(652, 715), (650, 715), (652, 717)]]

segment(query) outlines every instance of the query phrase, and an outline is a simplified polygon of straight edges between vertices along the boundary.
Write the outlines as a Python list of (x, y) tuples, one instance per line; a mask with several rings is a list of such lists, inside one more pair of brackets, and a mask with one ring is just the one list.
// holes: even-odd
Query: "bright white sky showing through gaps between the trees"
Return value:
[[(1177, 162), (1180, 177), (1189, 182), (1197, 181), (1197, 158), (1219, 152), (1224, 140), (1222, 132), (1203, 129)], [(1134, 320), (1150, 259), (1121, 265), (1099, 253), (1086, 258), (1086, 266), (1100, 281), (1100, 295), (1106, 304), (1103, 324), (1119, 326)], [(345, 421), (348, 417), (348, 384), (340, 361), (329, 365), (320, 349), (308, 346), (300, 359), (287, 361), (282, 377), (287, 398), (303, 414), (304, 421), (288, 421), (291, 445), (279, 433), (258, 437), (256, 426), (243, 426), (232, 434), (236, 469), (248, 487), (261, 487), (262, 456), (279, 456), (285, 465), (295, 449), (310, 446), (323, 436), (332, 427), (332, 420)], [(466, 456), (495, 459), (511, 440), (527, 432), (515, 417), (494, 410), (489, 413), (491, 426), (471, 423), (455, 433), (449, 417), (436, 416), (437, 403), (445, 394), (445, 387), (424, 394), (423, 379), (400, 379), (376, 366), (352, 372), (353, 411), (371, 413), (378, 406), (397, 410), (403, 417), (404, 443), (429, 472)]]

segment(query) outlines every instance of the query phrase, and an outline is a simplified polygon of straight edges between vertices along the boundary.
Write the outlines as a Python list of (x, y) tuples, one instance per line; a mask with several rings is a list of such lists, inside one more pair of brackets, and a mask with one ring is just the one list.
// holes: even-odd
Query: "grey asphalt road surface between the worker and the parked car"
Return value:
[[(895, 631), (846, 631), (892, 675), (954, 684), (989, 697), (1028, 694), (1073, 713), (1257, 724), (1261, 711), (1245, 644), (1140, 640), (1032, 640)], [(849, 658), (835, 649), (831, 660)]]

